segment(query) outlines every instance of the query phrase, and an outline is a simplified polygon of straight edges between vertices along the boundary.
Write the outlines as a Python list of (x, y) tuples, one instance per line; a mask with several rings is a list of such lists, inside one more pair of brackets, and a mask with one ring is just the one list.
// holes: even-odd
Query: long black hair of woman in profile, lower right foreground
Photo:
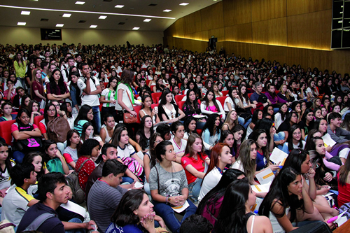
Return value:
[(290, 222), (293, 223), (294, 220), (297, 220), (296, 212), (297, 209), (303, 209), (303, 202), (302, 200), (299, 200), (299, 197), (297, 195), (289, 195), (288, 185), (295, 181), (295, 178), (297, 178), (298, 175), (300, 175), (300, 172), (297, 172), (292, 167), (283, 166), (283, 169), (279, 171), (279, 174), (276, 176), (276, 178), (274, 178), (274, 181), (272, 181), (269, 192), (267, 192), (267, 195), (260, 205), (258, 212), (260, 216), (267, 216), (268, 218), (270, 211), (274, 208), (274, 205), (276, 203), (281, 203), (283, 211), (281, 211), (281, 214), (274, 213), (274, 215), (277, 218), (282, 218), (286, 213), (287, 207), (289, 206)]

